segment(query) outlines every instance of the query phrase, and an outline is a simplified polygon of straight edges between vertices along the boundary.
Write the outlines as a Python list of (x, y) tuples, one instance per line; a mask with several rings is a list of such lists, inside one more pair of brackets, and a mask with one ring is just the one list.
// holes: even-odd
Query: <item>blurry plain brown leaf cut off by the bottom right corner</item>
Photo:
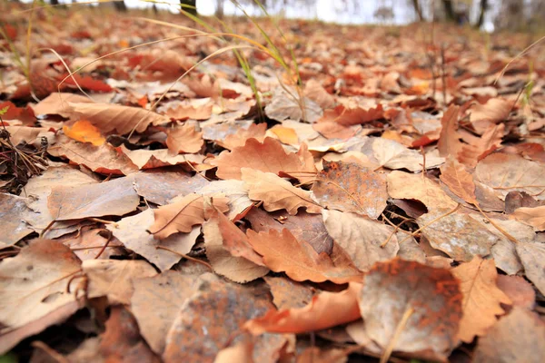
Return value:
[(526, 309), (513, 308), (479, 339), (475, 363), (540, 363), (545, 359), (545, 324)]

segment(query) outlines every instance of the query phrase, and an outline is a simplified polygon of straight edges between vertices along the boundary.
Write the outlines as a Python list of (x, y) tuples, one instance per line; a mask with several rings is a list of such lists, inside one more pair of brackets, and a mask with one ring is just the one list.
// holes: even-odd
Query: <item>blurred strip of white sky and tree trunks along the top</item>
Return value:
[[(12, 1), (32, 3), (34, 0)], [(88, 2), (45, 0), (45, 3)], [(263, 15), (254, 0), (239, 0), (238, 3), (249, 15)], [(113, 6), (120, 11), (153, 8), (157, 12), (175, 13), (181, 4), (195, 6), (198, 15), (243, 15), (231, 0), (124, 0), (100, 6)], [(343, 25), (407, 25), (435, 20), (471, 25), (486, 32), (545, 32), (545, 0), (262, 0), (261, 4), (271, 15)], [(192, 12), (191, 7), (185, 9)]]

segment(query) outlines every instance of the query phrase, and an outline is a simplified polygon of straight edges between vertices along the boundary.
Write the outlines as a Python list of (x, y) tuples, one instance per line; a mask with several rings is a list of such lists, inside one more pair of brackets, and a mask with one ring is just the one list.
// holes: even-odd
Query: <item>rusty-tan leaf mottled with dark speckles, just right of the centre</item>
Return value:
[(355, 162), (323, 161), (312, 191), (329, 209), (352, 211), (376, 219), (386, 208), (386, 176)]

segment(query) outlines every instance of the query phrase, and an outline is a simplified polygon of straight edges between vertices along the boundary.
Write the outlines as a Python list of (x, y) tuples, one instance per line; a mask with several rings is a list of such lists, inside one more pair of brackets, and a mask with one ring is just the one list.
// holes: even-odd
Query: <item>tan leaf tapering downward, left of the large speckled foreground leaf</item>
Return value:
[(163, 354), (166, 334), (186, 299), (193, 295), (193, 277), (167, 270), (134, 280), (131, 311), (142, 336), (155, 353)]

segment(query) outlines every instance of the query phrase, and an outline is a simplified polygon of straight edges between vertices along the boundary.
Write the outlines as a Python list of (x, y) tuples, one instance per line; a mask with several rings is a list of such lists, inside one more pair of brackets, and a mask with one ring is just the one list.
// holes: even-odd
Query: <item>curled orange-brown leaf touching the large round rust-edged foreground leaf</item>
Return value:
[[(264, 332), (305, 333), (328, 329), (360, 319), (358, 295), (362, 284), (352, 282), (341, 292), (327, 292), (315, 295), (310, 304), (303, 308), (269, 310), (263, 317), (244, 324), (252, 334)], [(332, 314), (332, 311), (335, 311)]]

